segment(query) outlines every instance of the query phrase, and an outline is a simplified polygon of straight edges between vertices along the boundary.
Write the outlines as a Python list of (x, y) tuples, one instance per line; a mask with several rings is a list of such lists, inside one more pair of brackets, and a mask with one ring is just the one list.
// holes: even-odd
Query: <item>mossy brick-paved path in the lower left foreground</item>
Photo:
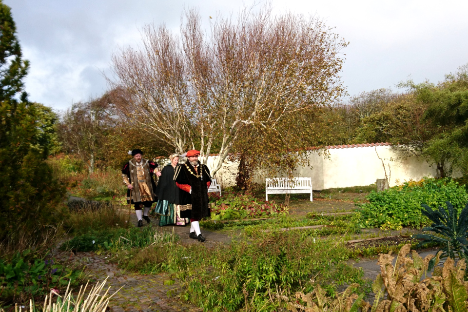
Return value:
[[(56, 254), (57, 258), (68, 258), (69, 254)], [(115, 264), (106, 263), (105, 255), (97, 255), (93, 252), (78, 253), (71, 260), (85, 265), (91, 274), (91, 278), (103, 281), (109, 276), (105, 289), (111, 286), (110, 294), (124, 286), (111, 299), (110, 306), (113, 312), (178, 312), (178, 311), (201, 311), (194, 305), (181, 300), (178, 297), (179, 285), (164, 285), (169, 280), (169, 275), (160, 273), (153, 275), (138, 275), (125, 272), (117, 268)]]

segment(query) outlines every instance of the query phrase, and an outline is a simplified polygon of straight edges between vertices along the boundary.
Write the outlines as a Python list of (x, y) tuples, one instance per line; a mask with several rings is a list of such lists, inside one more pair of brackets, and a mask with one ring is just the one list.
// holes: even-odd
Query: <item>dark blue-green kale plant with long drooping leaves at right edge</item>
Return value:
[[(423, 239), (416, 248), (426, 246), (429, 243), (438, 243), (442, 245), (440, 255), (442, 258), (451, 257), (455, 259), (468, 259), (468, 203), (462, 210), (460, 216), (453, 208), (450, 202), (447, 202), (447, 211), (439, 206), (438, 210), (432, 210), (428, 205), (422, 204), (424, 209), (421, 209), (423, 215), (426, 215), (431, 220), (432, 225), (423, 229), (423, 231), (431, 231), (433, 234), (417, 234), (415, 238)], [(429, 263), (429, 270), (434, 266), (435, 258)]]

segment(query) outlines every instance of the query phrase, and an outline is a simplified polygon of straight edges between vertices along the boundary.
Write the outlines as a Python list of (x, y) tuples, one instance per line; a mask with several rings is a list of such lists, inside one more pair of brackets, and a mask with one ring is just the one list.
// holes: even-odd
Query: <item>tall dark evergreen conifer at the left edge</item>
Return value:
[(51, 224), (51, 207), (63, 195), (44, 161), (44, 106), (29, 102), (24, 91), (28, 67), (10, 8), (0, 0), (0, 242), (8, 245)]

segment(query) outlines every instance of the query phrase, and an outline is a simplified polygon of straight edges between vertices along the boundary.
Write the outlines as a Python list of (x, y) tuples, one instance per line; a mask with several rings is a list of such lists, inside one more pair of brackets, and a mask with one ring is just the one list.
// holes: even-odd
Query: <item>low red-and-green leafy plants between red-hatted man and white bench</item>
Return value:
[(224, 192), (222, 197), (212, 195), (211, 201), (215, 204), (211, 207), (213, 220), (264, 218), (288, 214), (288, 207), (278, 205), (274, 201), (258, 199), (249, 193)]

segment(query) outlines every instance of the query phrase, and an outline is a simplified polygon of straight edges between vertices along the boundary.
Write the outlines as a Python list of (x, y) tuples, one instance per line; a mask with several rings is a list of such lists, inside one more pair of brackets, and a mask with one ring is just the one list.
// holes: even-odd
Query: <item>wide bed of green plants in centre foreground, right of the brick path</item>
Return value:
[(364, 285), (362, 271), (346, 263), (347, 253), (335, 241), (276, 232), (216, 249), (172, 243), (133, 249), (118, 261), (140, 273), (173, 273), (184, 286), (181, 296), (205, 311), (240, 311), (246, 305), (250, 311), (273, 311), (269, 298), (277, 289), (294, 292), (321, 284), (333, 293), (340, 285)]

